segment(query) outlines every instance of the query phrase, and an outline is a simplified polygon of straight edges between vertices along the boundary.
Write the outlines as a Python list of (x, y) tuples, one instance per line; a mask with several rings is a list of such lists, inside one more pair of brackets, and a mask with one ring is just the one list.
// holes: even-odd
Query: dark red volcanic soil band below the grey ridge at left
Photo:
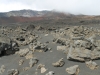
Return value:
[(34, 22), (42, 20), (43, 17), (0, 17), (0, 24), (17, 22)]

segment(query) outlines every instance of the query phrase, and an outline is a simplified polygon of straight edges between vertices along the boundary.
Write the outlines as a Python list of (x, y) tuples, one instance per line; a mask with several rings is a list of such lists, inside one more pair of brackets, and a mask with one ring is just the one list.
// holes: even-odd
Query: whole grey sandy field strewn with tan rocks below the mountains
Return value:
[(98, 24), (0, 26), (0, 75), (100, 75), (99, 66)]

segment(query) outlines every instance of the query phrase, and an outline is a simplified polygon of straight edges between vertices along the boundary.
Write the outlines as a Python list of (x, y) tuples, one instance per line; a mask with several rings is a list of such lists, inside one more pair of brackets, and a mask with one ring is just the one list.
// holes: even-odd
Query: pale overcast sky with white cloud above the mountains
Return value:
[(21, 9), (100, 15), (100, 0), (0, 0), (0, 12)]

